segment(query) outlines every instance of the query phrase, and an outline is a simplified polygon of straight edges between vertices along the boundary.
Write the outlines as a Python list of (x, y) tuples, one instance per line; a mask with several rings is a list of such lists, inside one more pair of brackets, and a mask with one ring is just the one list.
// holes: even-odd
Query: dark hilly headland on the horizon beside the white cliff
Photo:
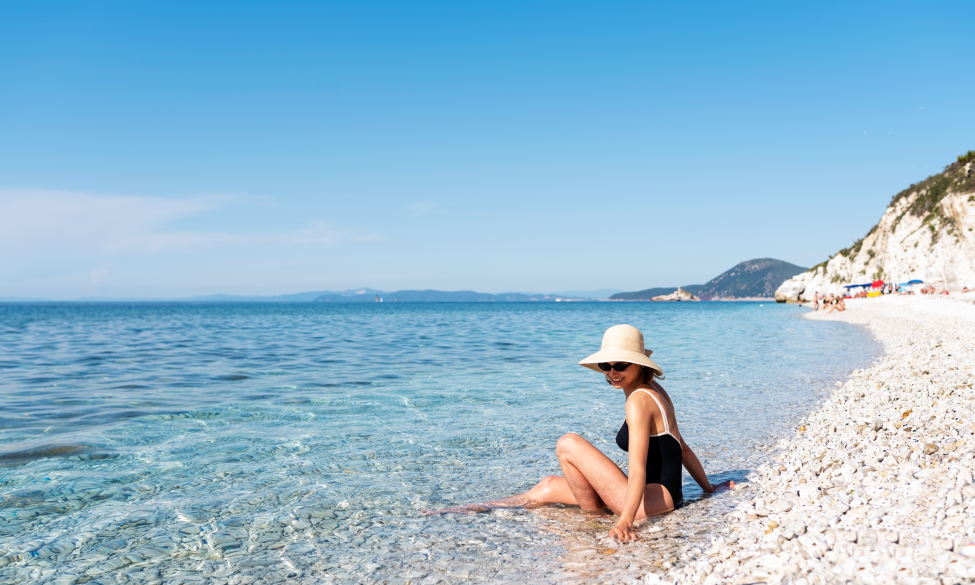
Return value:
[[(756, 258), (736, 264), (703, 285), (687, 285), (681, 289), (699, 296), (701, 300), (770, 299), (775, 296), (775, 290), (779, 285), (805, 270), (807, 269), (775, 258)], [(654, 296), (675, 291), (677, 287), (646, 289), (637, 292), (619, 292), (609, 298), (610, 300), (650, 300)]]

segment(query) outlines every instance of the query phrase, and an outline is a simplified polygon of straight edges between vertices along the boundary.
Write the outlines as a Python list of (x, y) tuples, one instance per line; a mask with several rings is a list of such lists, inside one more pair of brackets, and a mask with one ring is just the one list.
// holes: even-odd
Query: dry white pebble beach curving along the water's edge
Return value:
[(732, 494), (712, 545), (645, 583), (966, 583), (975, 577), (975, 294), (852, 299), (883, 355)]

